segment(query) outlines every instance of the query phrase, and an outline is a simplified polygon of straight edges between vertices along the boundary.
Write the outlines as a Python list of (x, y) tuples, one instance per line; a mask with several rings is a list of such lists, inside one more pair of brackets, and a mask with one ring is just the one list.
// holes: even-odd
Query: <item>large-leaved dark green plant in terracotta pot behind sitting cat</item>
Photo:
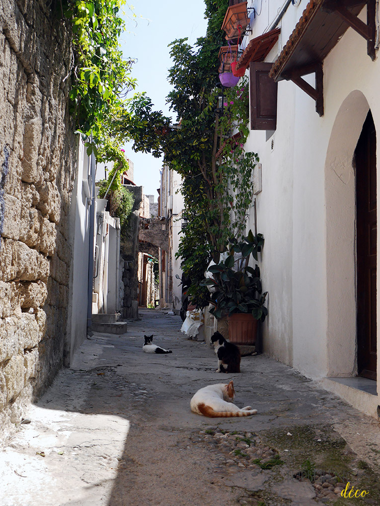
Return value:
[(248, 265), (250, 255), (258, 260), (263, 244), (263, 235), (254, 236), (251, 231), (240, 242), (230, 239), (229, 255), (210, 266), (207, 271), (212, 277), (202, 281), (212, 291), (210, 313), (217, 319), (229, 317), (229, 338), (235, 344), (254, 345), (257, 322), (263, 322), (268, 314), (268, 292), (262, 293), (260, 268)]

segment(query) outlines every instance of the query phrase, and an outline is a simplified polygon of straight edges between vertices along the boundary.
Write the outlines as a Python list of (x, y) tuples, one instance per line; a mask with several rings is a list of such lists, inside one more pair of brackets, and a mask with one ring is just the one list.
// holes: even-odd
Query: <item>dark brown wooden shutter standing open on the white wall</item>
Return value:
[(277, 82), (269, 77), (273, 63), (249, 64), (251, 130), (276, 130)]

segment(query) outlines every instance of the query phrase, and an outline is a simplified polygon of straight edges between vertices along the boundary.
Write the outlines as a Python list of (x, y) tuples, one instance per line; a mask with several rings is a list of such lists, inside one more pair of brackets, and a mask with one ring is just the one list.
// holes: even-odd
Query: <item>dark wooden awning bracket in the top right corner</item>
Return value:
[(323, 4), (323, 9), (325, 11), (336, 12), (343, 21), (364, 37), (367, 41), (367, 54), (371, 60), (375, 59), (375, 0), (367, 0), (367, 24), (355, 16), (355, 14), (352, 14), (342, 2), (337, 2), (336, 0), (327, 1)]

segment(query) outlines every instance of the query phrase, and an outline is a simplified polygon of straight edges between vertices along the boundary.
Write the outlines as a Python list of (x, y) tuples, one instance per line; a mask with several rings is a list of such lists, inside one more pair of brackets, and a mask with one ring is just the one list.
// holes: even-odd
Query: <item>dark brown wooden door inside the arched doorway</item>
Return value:
[(376, 131), (370, 111), (355, 160), (358, 373), (376, 379)]

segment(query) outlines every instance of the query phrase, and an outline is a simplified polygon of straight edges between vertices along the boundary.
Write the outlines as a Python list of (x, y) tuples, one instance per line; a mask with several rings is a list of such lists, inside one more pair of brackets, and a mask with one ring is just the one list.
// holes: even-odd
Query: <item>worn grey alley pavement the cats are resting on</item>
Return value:
[[(26, 407), (2, 452), (0, 506), (380, 504), (377, 421), (265, 355), (218, 374), (178, 316), (141, 316), (125, 335), (86, 340)], [(143, 353), (152, 333), (173, 353)], [(227, 379), (257, 415), (190, 411), (199, 388)], [(368, 494), (350, 499), (352, 487)]]

